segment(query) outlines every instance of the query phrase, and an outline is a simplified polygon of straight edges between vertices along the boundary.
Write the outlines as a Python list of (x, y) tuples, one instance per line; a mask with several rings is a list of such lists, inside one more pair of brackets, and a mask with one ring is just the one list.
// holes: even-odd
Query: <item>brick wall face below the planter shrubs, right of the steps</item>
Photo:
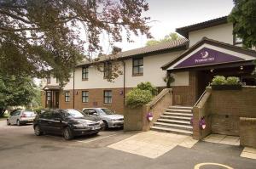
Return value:
[(256, 87), (212, 91), (212, 132), (239, 136), (239, 117), (256, 117)]

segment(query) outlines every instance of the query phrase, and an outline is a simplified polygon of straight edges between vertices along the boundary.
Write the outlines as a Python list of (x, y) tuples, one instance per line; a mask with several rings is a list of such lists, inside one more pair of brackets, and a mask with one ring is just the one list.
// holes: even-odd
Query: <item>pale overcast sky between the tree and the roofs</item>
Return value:
[[(233, 0), (148, 0), (149, 10), (143, 14), (157, 20), (150, 25), (155, 39), (165, 37), (178, 27), (193, 25), (230, 14)], [(146, 37), (136, 37), (133, 43), (122, 42), (118, 46), (122, 51), (141, 48), (147, 42)]]

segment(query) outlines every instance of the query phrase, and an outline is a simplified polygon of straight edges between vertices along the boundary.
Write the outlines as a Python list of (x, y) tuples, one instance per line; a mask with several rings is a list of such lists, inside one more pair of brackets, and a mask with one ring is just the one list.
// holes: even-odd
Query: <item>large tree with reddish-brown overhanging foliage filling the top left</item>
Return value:
[[(102, 52), (102, 34), (131, 42), (139, 33), (151, 37), (146, 0), (2, 0), (0, 1), (0, 73), (45, 77), (61, 84), (73, 67)], [(84, 33), (84, 37), (81, 37)]]

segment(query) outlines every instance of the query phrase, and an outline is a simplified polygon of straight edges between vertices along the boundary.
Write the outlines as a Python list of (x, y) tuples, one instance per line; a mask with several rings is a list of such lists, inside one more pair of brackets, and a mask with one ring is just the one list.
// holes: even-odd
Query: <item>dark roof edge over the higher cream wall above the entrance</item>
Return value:
[(184, 27), (177, 28), (177, 33), (181, 34), (183, 37), (189, 38), (189, 31), (197, 31), (201, 29), (205, 29), (207, 27), (212, 27), (215, 25), (221, 25), (228, 23), (228, 16), (223, 16), (220, 18), (216, 18), (213, 20), (207, 20), (201, 23), (197, 23), (194, 25), (187, 25)]

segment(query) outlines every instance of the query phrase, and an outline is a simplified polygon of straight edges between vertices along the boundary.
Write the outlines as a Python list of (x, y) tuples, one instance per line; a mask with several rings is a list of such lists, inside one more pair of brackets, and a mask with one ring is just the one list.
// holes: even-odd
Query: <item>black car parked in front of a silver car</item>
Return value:
[(55, 133), (62, 134), (68, 140), (74, 136), (98, 133), (101, 123), (78, 110), (45, 110), (36, 116), (33, 128), (37, 136), (45, 132)]

